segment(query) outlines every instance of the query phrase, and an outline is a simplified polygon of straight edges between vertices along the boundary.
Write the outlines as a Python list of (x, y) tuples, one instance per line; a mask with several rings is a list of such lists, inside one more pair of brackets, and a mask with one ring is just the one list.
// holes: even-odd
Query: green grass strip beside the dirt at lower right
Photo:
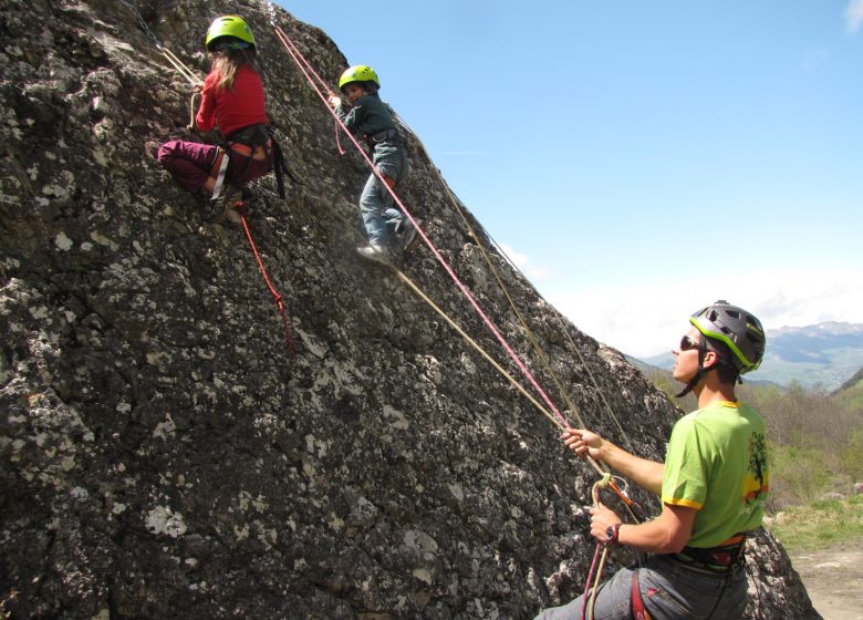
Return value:
[(789, 551), (813, 551), (863, 539), (863, 495), (792, 506), (774, 515), (768, 529)]

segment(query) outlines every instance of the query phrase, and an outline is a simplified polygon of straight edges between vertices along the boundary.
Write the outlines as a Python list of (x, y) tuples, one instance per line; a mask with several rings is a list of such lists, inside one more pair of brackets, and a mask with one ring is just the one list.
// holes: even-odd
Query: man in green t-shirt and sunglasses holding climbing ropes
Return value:
[[(640, 458), (600, 435), (568, 428), (564, 443), (604, 461), (662, 497), (658, 517), (622, 524), (605, 506), (591, 509), (591, 535), (651, 555), (617, 571), (595, 592), (595, 620), (635, 618), (738, 619), (746, 608), (741, 569), (747, 533), (761, 525), (769, 488), (765, 423), (735, 396), (739, 376), (765, 353), (761, 323), (717, 301), (693, 314), (673, 350), (674, 378), (686, 383), (698, 410), (674, 425), (665, 463)], [(582, 618), (584, 597), (543, 610), (537, 620)]]

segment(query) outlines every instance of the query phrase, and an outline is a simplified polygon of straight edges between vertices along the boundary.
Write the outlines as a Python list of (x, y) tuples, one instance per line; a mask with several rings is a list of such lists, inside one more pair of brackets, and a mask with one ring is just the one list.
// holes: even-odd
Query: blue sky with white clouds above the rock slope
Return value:
[(659, 353), (720, 298), (863, 323), (863, 0), (283, 6), (588, 334)]

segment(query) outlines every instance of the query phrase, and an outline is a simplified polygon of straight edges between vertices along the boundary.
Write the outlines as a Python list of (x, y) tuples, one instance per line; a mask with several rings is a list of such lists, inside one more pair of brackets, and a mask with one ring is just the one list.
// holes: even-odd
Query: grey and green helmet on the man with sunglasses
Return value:
[(765, 356), (767, 337), (761, 321), (742, 308), (719, 300), (689, 317), (705, 338), (725, 343), (734, 353), (727, 360), (740, 374), (753, 371)]

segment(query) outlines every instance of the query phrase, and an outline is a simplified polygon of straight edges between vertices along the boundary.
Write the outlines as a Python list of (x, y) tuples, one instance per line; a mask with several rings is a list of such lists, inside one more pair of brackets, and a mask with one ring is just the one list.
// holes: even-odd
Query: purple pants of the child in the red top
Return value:
[[(218, 170), (210, 175), (218, 154), (219, 147), (211, 144), (173, 140), (159, 146), (158, 161), (186, 192), (194, 194), (201, 188), (207, 177), (218, 175)], [(266, 158), (251, 162), (247, 155), (236, 151), (229, 151), (229, 155), (225, 180), (231, 185), (246, 185), (272, 169), (272, 149)]]

